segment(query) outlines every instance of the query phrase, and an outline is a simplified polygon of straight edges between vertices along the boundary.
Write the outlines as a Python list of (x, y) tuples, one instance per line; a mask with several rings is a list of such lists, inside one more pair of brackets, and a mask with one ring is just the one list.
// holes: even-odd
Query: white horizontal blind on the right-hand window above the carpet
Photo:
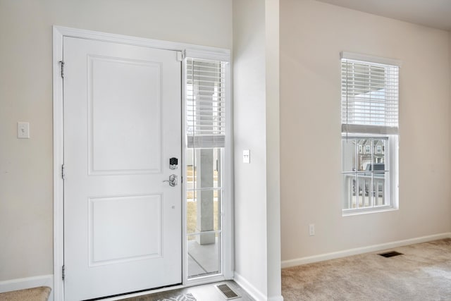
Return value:
[(342, 132), (397, 134), (399, 67), (341, 60)]

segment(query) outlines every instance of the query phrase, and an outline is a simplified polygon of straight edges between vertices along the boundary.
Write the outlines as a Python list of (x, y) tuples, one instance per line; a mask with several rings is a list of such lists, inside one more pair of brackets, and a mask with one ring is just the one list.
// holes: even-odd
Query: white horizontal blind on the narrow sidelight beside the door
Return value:
[(186, 59), (187, 147), (224, 147), (225, 63)]

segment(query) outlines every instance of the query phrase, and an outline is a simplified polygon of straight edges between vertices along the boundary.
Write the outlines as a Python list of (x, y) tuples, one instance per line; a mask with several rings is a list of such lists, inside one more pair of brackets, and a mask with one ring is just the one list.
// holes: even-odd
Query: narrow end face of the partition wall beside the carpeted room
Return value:
[(282, 300), (280, 274), (279, 0), (266, 0), (266, 250), (268, 300)]

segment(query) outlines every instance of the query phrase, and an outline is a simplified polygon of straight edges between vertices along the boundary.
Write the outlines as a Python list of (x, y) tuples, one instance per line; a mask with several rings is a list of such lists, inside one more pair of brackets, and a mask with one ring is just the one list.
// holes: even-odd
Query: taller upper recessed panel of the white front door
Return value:
[(161, 63), (89, 56), (89, 75), (91, 173), (161, 172)]

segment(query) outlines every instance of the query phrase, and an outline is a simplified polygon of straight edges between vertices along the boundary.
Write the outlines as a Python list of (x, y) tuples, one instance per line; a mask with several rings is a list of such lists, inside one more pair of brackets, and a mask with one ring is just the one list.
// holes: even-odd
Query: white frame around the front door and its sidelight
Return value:
[[(232, 112), (231, 98), (231, 78), (230, 78), (230, 50), (216, 47), (203, 47), (193, 44), (184, 44), (178, 42), (168, 42), (156, 39), (146, 39), (142, 37), (130, 37), (126, 35), (116, 35), (105, 32), (96, 32), (91, 30), (80, 30), (70, 27), (53, 26), (53, 140), (54, 140), (54, 300), (64, 300), (64, 284), (63, 284), (63, 263), (64, 263), (64, 231), (63, 231), (63, 141), (64, 141), (64, 120), (63, 120), (63, 78), (61, 73), (61, 61), (63, 59), (63, 37), (77, 37), (82, 39), (94, 39), (103, 42), (116, 42), (121, 44), (130, 44), (141, 47), (150, 47), (157, 49), (166, 49), (173, 51), (182, 51), (183, 54), (189, 54), (190, 57), (197, 59), (211, 59), (228, 62), (226, 70), (227, 80), (227, 98), (226, 109)], [(184, 66), (184, 64), (182, 64)], [(184, 67), (183, 67), (184, 68)], [(185, 94), (185, 82), (182, 81), (182, 93)], [(183, 97), (184, 98), (184, 97)], [(182, 109), (185, 108), (185, 100), (182, 99)], [(183, 124), (182, 144), (185, 145), (185, 123)], [(228, 115), (228, 124), (226, 128), (226, 164), (224, 168), (225, 188), (224, 197), (228, 199), (223, 204), (223, 257), (222, 257), (222, 275), (205, 277), (200, 279), (187, 279), (187, 262), (185, 254), (186, 246), (186, 204), (182, 202), (182, 286), (197, 285), (200, 283), (208, 283), (212, 281), (221, 281), (224, 279), (232, 279), (234, 271), (233, 258), (233, 131), (232, 131), (232, 114)], [(184, 152), (183, 152), (184, 153)], [(185, 161), (183, 154), (183, 161)], [(183, 185), (182, 195), (185, 195), (185, 185)]]

